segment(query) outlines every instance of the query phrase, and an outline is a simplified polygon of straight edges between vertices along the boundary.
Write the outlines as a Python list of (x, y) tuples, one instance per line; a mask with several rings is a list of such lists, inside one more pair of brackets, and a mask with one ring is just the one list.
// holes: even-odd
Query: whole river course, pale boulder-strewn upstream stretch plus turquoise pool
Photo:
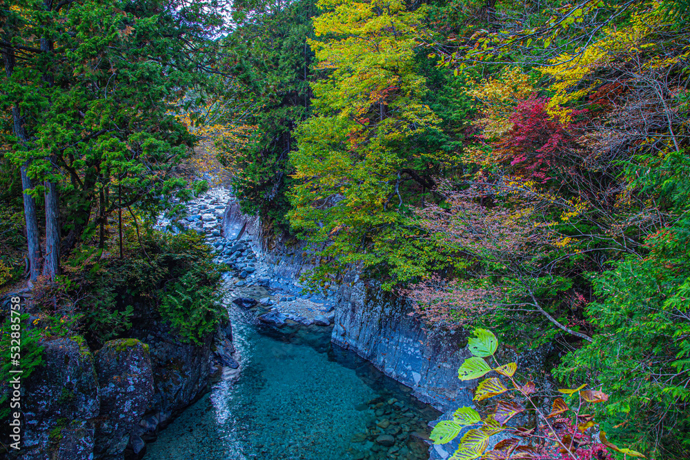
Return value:
[[(205, 235), (215, 262), (227, 270), (223, 289), (235, 345), (220, 357), (226, 370), (210, 398), (162, 433), (146, 459), (186, 459), (190, 445), (214, 459), (427, 459), (428, 422), (438, 412), (368, 361), (331, 345), (335, 290), (305, 293), (295, 277), (267, 261), (255, 232), (245, 224), (223, 226), (223, 205), (233, 208), (232, 201), (227, 190), (211, 190), (190, 206), (184, 226)], [(247, 380), (257, 372), (273, 377), (259, 379), (264, 383), (257, 386)], [(286, 387), (292, 391), (286, 393)], [(282, 404), (272, 402), (276, 397), (293, 401), (291, 410), (279, 414)], [(277, 412), (264, 421), (265, 405)], [(188, 417), (195, 419), (194, 438), (203, 442), (179, 441)], [(236, 425), (218, 423), (219, 417), (234, 418)], [(242, 433), (235, 430), (239, 427)], [(284, 430), (287, 439), (271, 430)]]

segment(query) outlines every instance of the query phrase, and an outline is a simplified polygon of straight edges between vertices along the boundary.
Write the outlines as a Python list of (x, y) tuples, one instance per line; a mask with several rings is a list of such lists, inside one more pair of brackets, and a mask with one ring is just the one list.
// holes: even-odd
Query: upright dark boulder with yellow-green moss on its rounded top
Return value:
[(154, 392), (148, 345), (137, 339), (108, 341), (96, 352), (96, 369), (101, 409), (95, 454), (121, 459)]

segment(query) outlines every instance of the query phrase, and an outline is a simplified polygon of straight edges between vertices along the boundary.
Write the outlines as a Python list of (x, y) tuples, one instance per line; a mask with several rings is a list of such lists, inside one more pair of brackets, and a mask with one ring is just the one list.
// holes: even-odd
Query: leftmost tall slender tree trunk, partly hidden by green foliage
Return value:
[[(12, 77), (14, 72), (14, 50), (12, 48), (3, 48), (3, 61), (5, 64), (5, 73), (7, 78)], [(24, 128), (21, 119), (21, 112), (19, 111), (19, 104), (15, 103), (12, 106), (12, 131), (17, 136), (19, 144), (26, 147), (28, 137), (26, 129)], [(36, 281), (41, 274), (41, 244), (39, 243), (39, 225), (36, 216), (36, 201), (28, 194), (27, 190), (33, 188), (31, 179), (28, 176), (28, 168), (31, 165), (31, 160), (26, 162), (19, 168), (21, 173), (21, 189), (23, 190), (24, 201), (24, 220), (26, 222), (26, 243), (29, 252), (29, 277), (31, 281)]]

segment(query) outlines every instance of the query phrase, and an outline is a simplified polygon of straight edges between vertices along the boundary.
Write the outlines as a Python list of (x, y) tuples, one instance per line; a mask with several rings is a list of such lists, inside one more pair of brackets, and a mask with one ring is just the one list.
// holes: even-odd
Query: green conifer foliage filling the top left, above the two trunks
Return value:
[[(3, 51), (0, 108), (18, 108), (21, 129), (4, 118), (0, 145), (11, 146), (3, 153), (15, 174), (26, 164), (34, 197), (43, 181), (57, 183), (66, 249), (119, 208), (154, 216), (174, 208), (173, 197), (188, 199), (174, 173), (194, 137), (175, 108), (208, 83), (204, 61), (221, 19), (215, 6), (8, 0), (2, 8), (0, 36), (12, 46)], [(104, 239), (101, 231), (101, 247)]]

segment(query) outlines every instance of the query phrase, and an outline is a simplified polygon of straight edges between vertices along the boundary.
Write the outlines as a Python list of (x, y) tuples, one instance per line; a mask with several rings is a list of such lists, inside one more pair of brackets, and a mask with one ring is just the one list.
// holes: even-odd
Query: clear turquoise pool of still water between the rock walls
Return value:
[(331, 346), (331, 328), (259, 326), (234, 307), (230, 318), (239, 369), (163, 430), (145, 460), (428, 458), (421, 438), (440, 412)]

